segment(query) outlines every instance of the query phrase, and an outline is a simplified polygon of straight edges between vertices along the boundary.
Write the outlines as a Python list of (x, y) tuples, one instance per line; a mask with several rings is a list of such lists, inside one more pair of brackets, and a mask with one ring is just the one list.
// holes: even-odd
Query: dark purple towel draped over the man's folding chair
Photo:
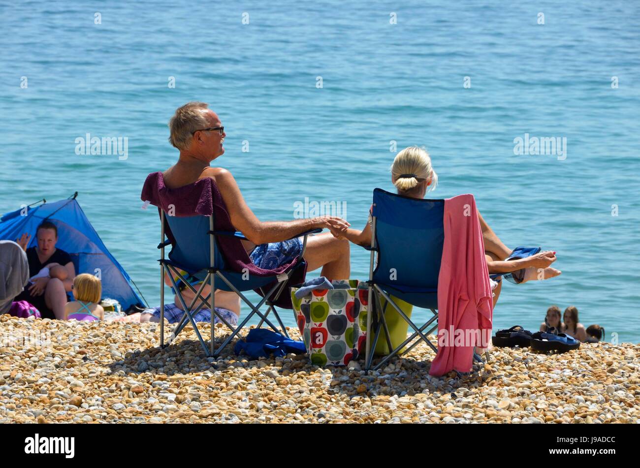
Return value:
[[(142, 193), (140, 195), (142, 201), (148, 201), (151, 205), (158, 207), (158, 210), (163, 209), (165, 212), (169, 211), (169, 205), (173, 205), (175, 215), (178, 217), (203, 215), (210, 216), (214, 212), (214, 230), (216, 231), (236, 231), (236, 228), (231, 223), (231, 219), (227, 212), (225, 202), (218, 191), (218, 187), (212, 178), (204, 178), (196, 180), (196, 182), (190, 185), (184, 185), (177, 189), (169, 189), (164, 185), (164, 178), (161, 172), (154, 172), (147, 176), (145, 185), (142, 187)], [(160, 212), (158, 211), (158, 214)], [(166, 220), (165, 220), (166, 221)], [(172, 244), (175, 243), (175, 238), (167, 222), (164, 224), (164, 232), (169, 238)], [(276, 276), (280, 273), (287, 272), (291, 268), (296, 267), (300, 263), (300, 257), (294, 258), (290, 263), (285, 263), (275, 270), (263, 270), (255, 265), (249, 258), (249, 255), (244, 250), (242, 242), (237, 237), (231, 236), (217, 236), (218, 247), (222, 256), (227, 263), (227, 269), (234, 272), (243, 272), (243, 269), (248, 269), (249, 274), (266, 277)], [(292, 309), (291, 295), (289, 294), (289, 287), (291, 285), (297, 285), (305, 281), (305, 275), (307, 274), (307, 264), (304, 263), (302, 267), (296, 268), (291, 275), (291, 279), (285, 286), (284, 292), (280, 294), (280, 297), (275, 302), (276, 306)], [(265, 292), (268, 292), (276, 281), (269, 283), (269, 285), (262, 288)], [(259, 290), (257, 293), (262, 295)]]

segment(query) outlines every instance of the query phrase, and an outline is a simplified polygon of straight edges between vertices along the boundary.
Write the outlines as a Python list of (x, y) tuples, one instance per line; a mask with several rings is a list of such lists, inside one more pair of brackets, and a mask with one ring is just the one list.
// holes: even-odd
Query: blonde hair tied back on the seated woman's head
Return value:
[(433, 190), (438, 185), (438, 175), (431, 166), (431, 157), (419, 146), (409, 146), (397, 153), (391, 165), (391, 176), (399, 192), (413, 189), (422, 180), (431, 180), (427, 190)]

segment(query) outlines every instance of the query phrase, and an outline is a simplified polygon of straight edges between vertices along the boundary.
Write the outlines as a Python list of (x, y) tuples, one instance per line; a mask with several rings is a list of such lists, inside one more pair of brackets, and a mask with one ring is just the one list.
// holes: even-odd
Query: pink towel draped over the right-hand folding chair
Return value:
[(491, 336), (493, 319), (493, 297), (474, 196), (445, 199), (443, 221), (438, 354), (429, 371), (435, 377), (451, 370), (470, 371), (474, 347), (487, 345), (483, 341)]

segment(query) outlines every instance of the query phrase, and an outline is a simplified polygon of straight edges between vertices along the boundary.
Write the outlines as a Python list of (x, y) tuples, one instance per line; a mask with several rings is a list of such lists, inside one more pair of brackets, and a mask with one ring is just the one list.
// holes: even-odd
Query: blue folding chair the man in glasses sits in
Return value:
[[(278, 300), (283, 290), (285, 289), (285, 285), (287, 281), (291, 278), (291, 275), (297, 269), (305, 269), (305, 261), (301, 258), (300, 261), (291, 267), (291, 269), (277, 275), (277, 276), (255, 276), (249, 275), (247, 272), (237, 272), (228, 269), (227, 262), (223, 254), (221, 253), (221, 249), (218, 246), (217, 238), (220, 236), (232, 236), (239, 238), (241, 240), (246, 240), (246, 237), (239, 232), (229, 232), (229, 231), (216, 231), (214, 230), (214, 215), (203, 216), (203, 215), (195, 215), (195, 216), (187, 216), (187, 217), (177, 217), (177, 216), (168, 216), (164, 213), (164, 210), (161, 210), (161, 243), (158, 245), (158, 248), (161, 252), (160, 262), (160, 270), (161, 270), (161, 285), (160, 285), (160, 342), (161, 346), (164, 347), (164, 272), (165, 269), (169, 270), (172, 274), (169, 275), (170, 281), (173, 285), (173, 290), (177, 294), (178, 300), (182, 305), (182, 309), (184, 310), (184, 315), (180, 322), (175, 325), (170, 339), (167, 344), (173, 342), (173, 340), (178, 336), (180, 331), (184, 329), (186, 324), (189, 322), (193, 327), (198, 340), (200, 341), (200, 345), (205, 351), (207, 356), (212, 355), (217, 357), (222, 352), (223, 348), (225, 348), (232, 339), (244, 328), (244, 326), (249, 322), (253, 315), (260, 316), (260, 323), (258, 327), (261, 327), (263, 323), (266, 323), (273, 329), (275, 332), (282, 332), (287, 338), (289, 338), (289, 334), (287, 333), (287, 329), (284, 326), (284, 323), (280, 319), (278, 312), (275, 309), (275, 302)], [(164, 248), (166, 246), (171, 245), (172, 243), (169, 240), (165, 239), (164, 234), (164, 223), (168, 222), (168, 226), (172, 232), (173, 238), (175, 242), (173, 243), (172, 250), (169, 253), (169, 258), (164, 257)], [(307, 231), (305, 233), (301, 233), (294, 237), (304, 237), (303, 247), (300, 257), (305, 253), (305, 249), (307, 247), (307, 236), (310, 233), (317, 233), (321, 230), (316, 229), (312, 231)], [(186, 271), (190, 276), (194, 276), (202, 281), (202, 284), (198, 290), (189, 283), (188, 278), (186, 278), (179, 270)], [(189, 288), (193, 293), (195, 293), (194, 299), (191, 301), (191, 304), (187, 304), (182, 294), (180, 293), (180, 288), (175, 280), (175, 277), (182, 282), (184, 286)], [(218, 281), (216, 282), (216, 277), (218, 277)], [(221, 280), (221, 281), (220, 281)], [(273, 283), (277, 281), (273, 286), (269, 288), (269, 290), (265, 290), (264, 288), (269, 285), (269, 283)], [(251, 308), (251, 313), (244, 318), (244, 320), (239, 324), (236, 328), (232, 325), (228, 324), (228, 322), (220, 316), (220, 314), (215, 309), (215, 298), (211, 293), (207, 294), (206, 297), (203, 297), (202, 292), (206, 285), (211, 286), (211, 292), (214, 292), (216, 289), (223, 291), (233, 291), (244, 302)], [(260, 290), (262, 295), (262, 300), (257, 305), (254, 305), (243, 292), (250, 290)], [(202, 302), (197, 307), (195, 306), (195, 302), (200, 299)], [(268, 304), (268, 310), (265, 314), (260, 312), (260, 308), (264, 304)], [(198, 331), (198, 327), (196, 327), (196, 323), (193, 320), (193, 315), (195, 315), (200, 308), (204, 304), (210, 305), (211, 307), (211, 335), (210, 335), (210, 344), (209, 347), (205, 345), (204, 339), (200, 335), (200, 331)], [(280, 330), (269, 320), (268, 315), (273, 311), (273, 315), (275, 315), (278, 324), (280, 325)], [(215, 327), (214, 327), (214, 314), (220, 318), (221, 322), (225, 324), (231, 331), (230, 336), (225, 339), (225, 341), (220, 345), (220, 347), (216, 350), (214, 348), (215, 342)]]

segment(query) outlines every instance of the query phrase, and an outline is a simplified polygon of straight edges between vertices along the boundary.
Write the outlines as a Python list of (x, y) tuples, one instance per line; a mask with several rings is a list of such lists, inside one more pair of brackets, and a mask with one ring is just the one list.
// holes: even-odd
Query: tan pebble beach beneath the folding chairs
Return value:
[[(379, 370), (207, 358), (191, 327), (0, 316), (0, 423), (637, 423), (640, 345), (493, 348), (458, 377), (419, 345)], [(209, 325), (201, 332), (209, 335)], [(170, 329), (165, 329), (168, 335)], [(223, 338), (220, 329), (216, 341)], [(289, 329), (299, 338), (297, 329)], [(220, 341), (218, 341), (220, 343)]]

